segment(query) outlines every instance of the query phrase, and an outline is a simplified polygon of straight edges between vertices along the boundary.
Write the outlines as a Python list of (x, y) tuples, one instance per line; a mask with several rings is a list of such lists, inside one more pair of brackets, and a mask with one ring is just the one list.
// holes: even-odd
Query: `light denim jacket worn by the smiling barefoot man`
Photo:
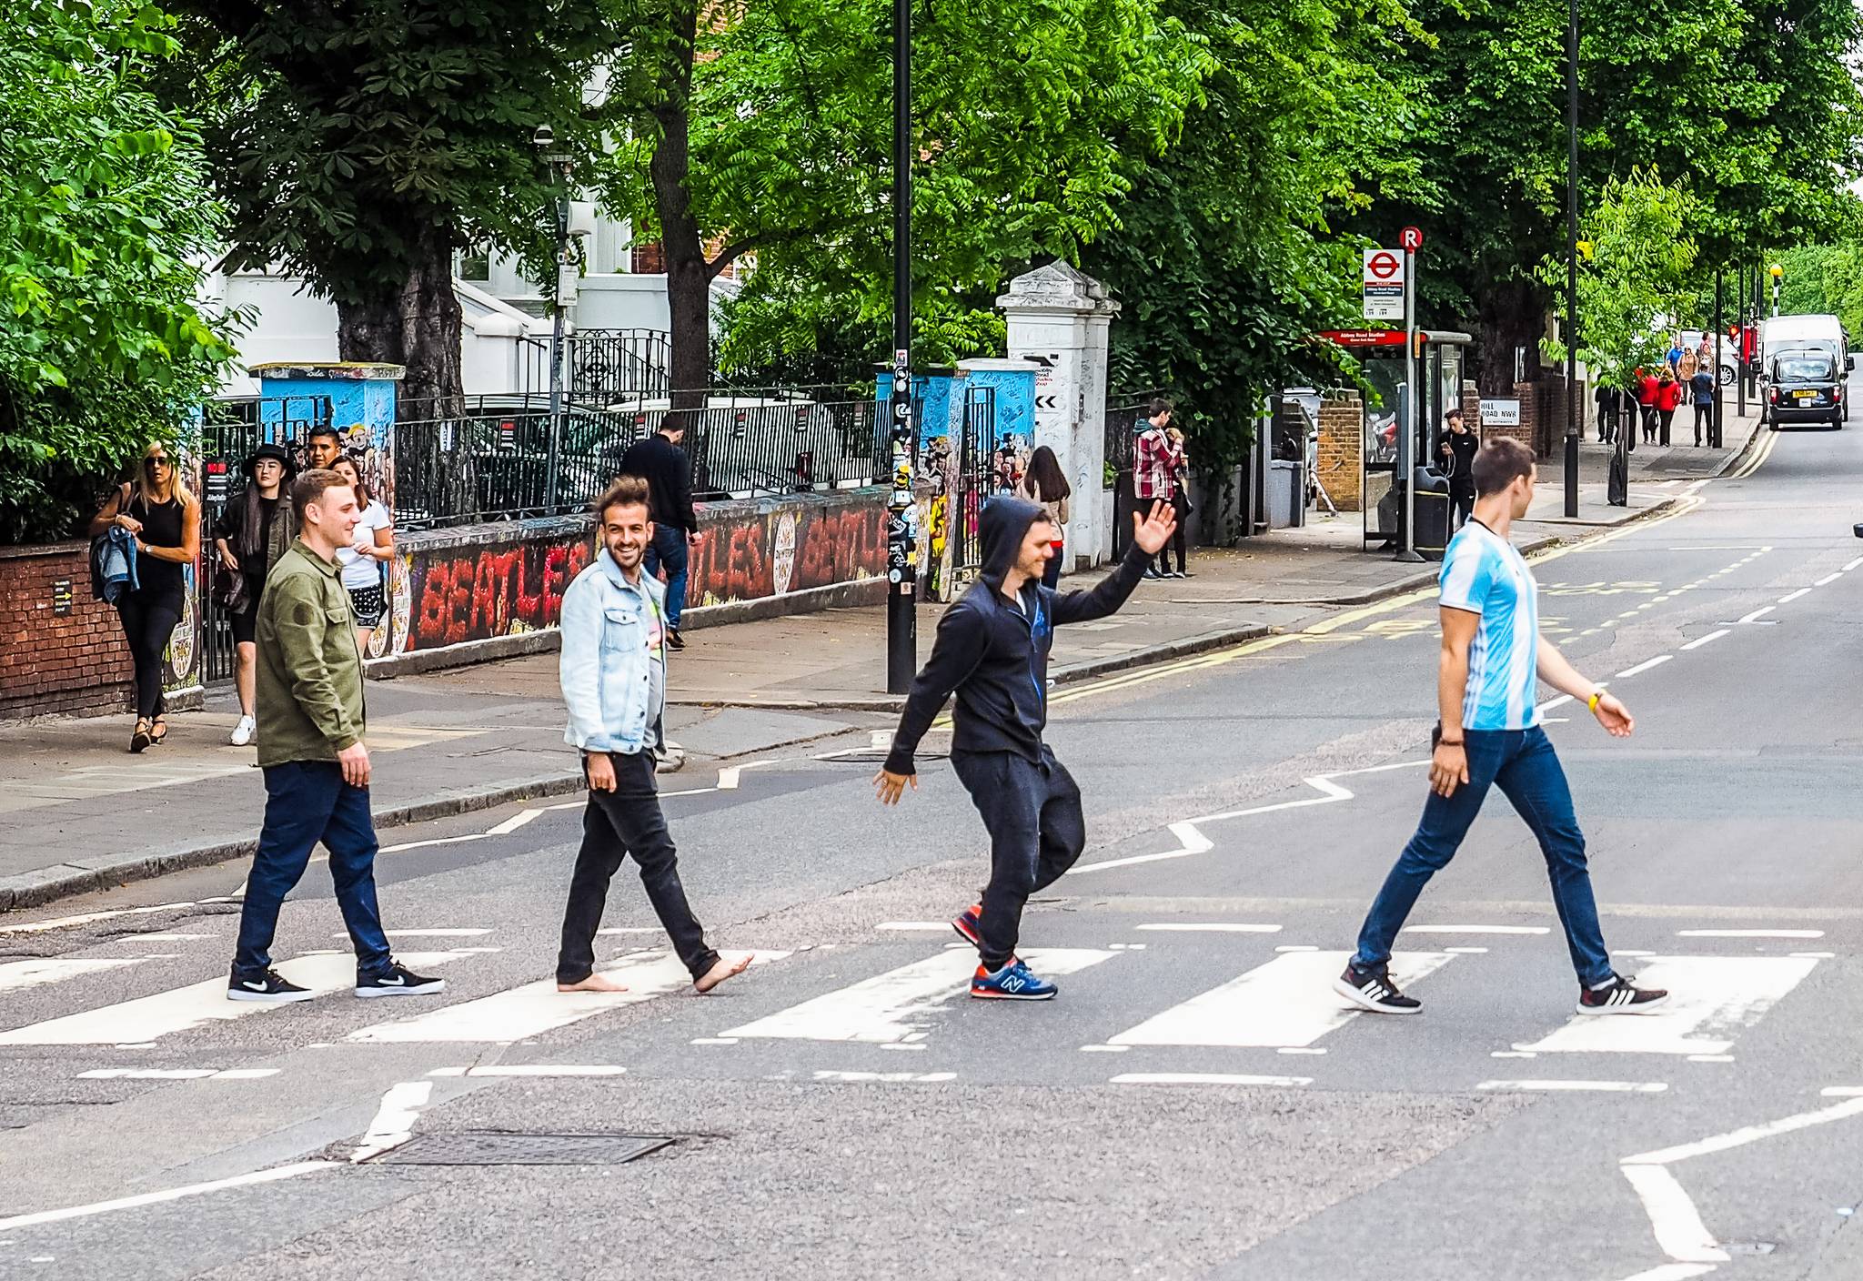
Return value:
[(639, 752), (665, 713), (648, 704), (646, 629), (663, 616), (665, 585), (641, 573), (628, 583), (604, 547), (563, 592), (563, 655), (557, 665), (570, 722), (563, 741), (585, 752)]

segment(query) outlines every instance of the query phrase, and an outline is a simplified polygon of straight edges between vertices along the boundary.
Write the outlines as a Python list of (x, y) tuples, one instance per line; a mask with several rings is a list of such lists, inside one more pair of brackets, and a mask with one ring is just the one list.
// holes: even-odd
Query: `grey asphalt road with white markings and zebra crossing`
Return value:
[[(1399, 940), (1425, 1013), (1328, 991), (1421, 806), (1435, 605), (1395, 600), (1056, 693), (1090, 849), (1025, 922), (1045, 1005), (961, 996), (982, 829), (935, 750), (881, 810), (866, 730), (665, 782), (714, 942), (762, 953), (708, 998), (626, 870), (635, 991), (548, 991), (576, 802), (389, 834), (432, 1000), (347, 994), (320, 870), (278, 948), (333, 989), (304, 1005), (218, 1000), (237, 868), (7, 918), (0, 1275), (1856, 1281), (1863, 428), (1766, 445), (1535, 566), (1638, 715), (1548, 708), (1666, 1015), (1574, 1017), (1500, 797)], [(674, 1141), (412, 1164), (481, 1132)]]

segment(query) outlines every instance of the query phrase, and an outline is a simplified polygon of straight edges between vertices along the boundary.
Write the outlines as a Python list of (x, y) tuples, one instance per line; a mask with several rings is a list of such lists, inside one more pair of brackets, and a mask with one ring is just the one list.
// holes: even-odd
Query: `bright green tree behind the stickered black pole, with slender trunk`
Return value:
[[(887, 350), (891, 6), (663, 0), (617, 76), (630, 138), (607, 205), (661, 240), (673, 385), (708, 382), (710, 283), (755, 255), (727, 365), (835, 333)], [(967, 354), (1006, 263), (1071, 251), (1127, 194), (1122, 147), (1161, 149), (1207, 54), (1149, 0), (974, 0), (913, 11), (915, 341)], [(995, 330), (1000, 333), (1000, 328)]]

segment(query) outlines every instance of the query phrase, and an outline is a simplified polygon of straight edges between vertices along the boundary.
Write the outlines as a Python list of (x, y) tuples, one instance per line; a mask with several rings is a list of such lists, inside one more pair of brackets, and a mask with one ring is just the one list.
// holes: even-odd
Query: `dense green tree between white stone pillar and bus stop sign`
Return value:
[(1360, 182), (1414, 177), (1410, 119), (1380, 74), (1403, 30), (1395, 4), (1170, 6), (1215, 67), (1183, 140), (1136, 169), (1118, 225), (1082, 268), (1123, 303), (1112, 328), (1122, 387), (1166, 387), (1200, 462), (1241, 458), (1263, 395), (1338, 374), (1315, 330), (1362, 324), (1358, 236), (1334, 220), (1362, 209)]

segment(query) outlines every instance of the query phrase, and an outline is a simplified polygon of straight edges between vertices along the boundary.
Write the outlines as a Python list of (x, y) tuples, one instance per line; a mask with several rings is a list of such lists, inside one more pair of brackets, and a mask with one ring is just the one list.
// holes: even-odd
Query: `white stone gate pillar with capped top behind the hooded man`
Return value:
[(1032, 359), (1036, 374), (1034, 443), (1047, 445), (1073, 486), (1067, 505), (1067, 568), (1105, 559), (1107, 508), (1101, 501), (1107, 411), (1107, 337), (1120, 303), (1107, 287), (1066, 263), (1049, 263), (1010, 281), (997, 298), (1010, 326), (1010, 357)]

